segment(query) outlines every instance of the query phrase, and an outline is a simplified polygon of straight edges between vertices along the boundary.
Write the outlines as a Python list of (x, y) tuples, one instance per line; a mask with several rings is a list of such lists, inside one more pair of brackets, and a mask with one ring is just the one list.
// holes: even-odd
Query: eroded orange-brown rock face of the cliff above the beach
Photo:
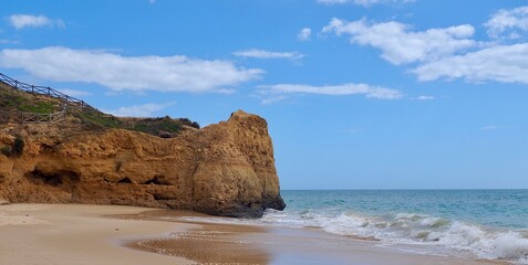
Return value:
[[(25, 126), (20, 134), (22, 157), (0, 155), (0, 199), (11, 202), (126, 204), (247, 218), (284, 208), (267, 123), (241, 110), (173, 139), (121, 129), (72, 136), (45, 125)], [(0, 132), (3, 145), (12, 140)]]

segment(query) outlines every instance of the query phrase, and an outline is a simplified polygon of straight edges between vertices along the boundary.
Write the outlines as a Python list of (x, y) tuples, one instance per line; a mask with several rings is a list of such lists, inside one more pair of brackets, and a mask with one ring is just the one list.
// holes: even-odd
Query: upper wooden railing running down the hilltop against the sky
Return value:
[(95, 109), (94, 107), (90, 106), (86, 104), (84, 100), (81, 100), (75, 97), (71, 97), (60, 91), (53, 89), (49, 86), (35, 86), (35, 85), (30, 85), (20, 81), (17, 81), (14, 78), (11, 78), (2, 73), (0, 73), (0, 82), (7, 84), (8, 86), (11, 86), (15, 89), (24, 91), (28, 93), (32, 94), (38, 94), (38, 95), (44, 95), (49, 97), (55, 97), (59, 98), (65, 107), (74, 107), (74, 108), (92, 108)]

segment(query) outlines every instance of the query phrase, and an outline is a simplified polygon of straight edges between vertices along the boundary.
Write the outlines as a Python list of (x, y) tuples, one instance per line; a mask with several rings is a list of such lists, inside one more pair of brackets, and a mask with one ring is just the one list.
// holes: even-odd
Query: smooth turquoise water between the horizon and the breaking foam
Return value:
[(282, 191), (287, 211), (416, 213), (496, 229), (528, 230), (528, 190)]

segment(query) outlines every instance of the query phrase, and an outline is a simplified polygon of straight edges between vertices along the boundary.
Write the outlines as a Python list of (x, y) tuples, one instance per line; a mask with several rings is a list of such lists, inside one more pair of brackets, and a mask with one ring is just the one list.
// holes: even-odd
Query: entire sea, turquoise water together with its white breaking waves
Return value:
[(528, 190), (286, 190), (281, 195), (284, 211), (228, 222), (315, 229), (422, 254), (470, 253), (528, 264)]

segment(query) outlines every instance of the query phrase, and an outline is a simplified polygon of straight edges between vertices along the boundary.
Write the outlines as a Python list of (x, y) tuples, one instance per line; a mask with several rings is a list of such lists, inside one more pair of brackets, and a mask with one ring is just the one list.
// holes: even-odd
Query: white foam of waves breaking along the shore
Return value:
[(527, 232), (491, 230), (466, 222), (415, 213), (371, 216), (350, 211), (337, 213), (314, 210), (301, 212), (269, 210), (260, 220), (209, 219), (208, 221), (317, 227), (332, 234), (376, 239), (393, 245), (442, 246), (446, 250), (470, 252), (483, 258), (500, 258), (528, 264)]

